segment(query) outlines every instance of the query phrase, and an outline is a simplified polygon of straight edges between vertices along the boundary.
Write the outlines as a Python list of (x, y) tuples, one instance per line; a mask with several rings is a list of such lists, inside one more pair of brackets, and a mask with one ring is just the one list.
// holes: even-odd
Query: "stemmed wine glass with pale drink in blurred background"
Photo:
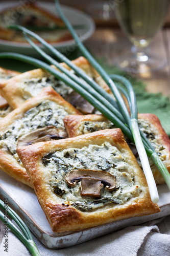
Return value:
[(123, 51), (116, 65), (135, 73), (160, 70), (165, 59), (149, 51), (149, 44), (163, 25), (169, 0), (114, 0), (120, 27), (132, 42), (131, 51)]

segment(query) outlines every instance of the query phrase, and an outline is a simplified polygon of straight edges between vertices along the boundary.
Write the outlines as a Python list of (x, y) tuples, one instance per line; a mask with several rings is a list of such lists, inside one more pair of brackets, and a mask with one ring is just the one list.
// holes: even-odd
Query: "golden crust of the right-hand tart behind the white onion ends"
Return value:
[[(147, 120), (150, 125), (152, 132), (155, 135), (156, 140), (160, 145), (163, 145), (164, 150), (161, 151), (162, 155), (166, 156), (163, 160), (164, 165), (166, 166), (168, 172), (170, 173), (170, 140), (167, 134), (165, 133), (159, 118), (154, 114), (138, 114), (138, 119)], [(80, 130), (80, 125), (84, 121), (93, 121), (93, 122), (106, 122), (108, 119), (102, 115), (86, 115), (86, 116), (76, 116), (70, 115), (64, 118), (65, 129), (69, 137), (76, 137), (82, 135)], [(159, 170), (155, 164), (151, 165), (151, 169), (154, 175), (156, 184), (164, 184), (165, 181), (160, 174)]]

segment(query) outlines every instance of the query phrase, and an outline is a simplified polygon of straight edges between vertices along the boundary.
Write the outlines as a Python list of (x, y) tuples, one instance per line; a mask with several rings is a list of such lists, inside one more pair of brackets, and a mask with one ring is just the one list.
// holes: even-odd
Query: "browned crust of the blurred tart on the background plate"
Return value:
[[(21, 8), (24, 8), (24, 7), (21, 7)], [(12, 11), (17, 11), (17, 9), (18, 9), (18, 6), (15, 7), (15, 8), (12, 8)], [(11, 8), (10, 9), (9, 8), (5, 9), (3, 12), (0, 13), (0, 15), (1, 14), (5, 15), (10, 10), (11, 10)], [(26, 8), (25, 11), (27, 11), (27, 10), (28, 10), (28, 8)], [(56, 26), (64, 26), (64, 23), (62, 22), (62, 20), (60, 18), (56, 17), (52, 13), (47, 12), (44, 9), (41, 9), (40, 7), (35, 6), (34, 4), (30, 4), (29, 10), (36, 11), (39, 14), (42, 14), (45, 18), (55, 22)], [(15, 38), (14, 37), (15, 33), (16, 33), (15, 30), (6, 29), (6, 28), (3, 28), (3, 27), (0, 27), (0, 38), (1, 39), (9, 40), (9, 41), (16, 41), (16, 42), (23, 42), (24, 44), (28, 44), (28, 42), (22, 36)], [(51, 31), (51, 33), (54, 33), (54, 31)], [(61, 36), (58, 38), (58, 40), (54, 40), (54, 39), (50, 39), (50, 38), (45, 38), (45, 40), (47, 42), (53, 42), (53, 43), (55, 43), (55, 42), (62, 42), (62, 41), (66, 41), (66, 40), (71, 40), (71, 39), (72, 39), (72, 36), (71, 36), (71, 34), (68, 31), (64, 31), (64, 33), (61, 34)], [(34, 41), (37, 42), (37, 40), (34, 40)]]

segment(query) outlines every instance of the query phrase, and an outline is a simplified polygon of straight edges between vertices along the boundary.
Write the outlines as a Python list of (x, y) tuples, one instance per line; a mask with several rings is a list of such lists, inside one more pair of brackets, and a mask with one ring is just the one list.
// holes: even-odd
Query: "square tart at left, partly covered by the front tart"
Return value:
[[(55, 130), (55, 136), (46, 139), (59, 139), (59, 134), (62, 132), (66, 137), (63, 118), (69, 114), (78, 115), (80, 112), (53, 88), (46, 87), (39, 95), (27, 100), (8, 116), (2, 118), (0, 120), (0, 168), (17, 181), (31, 186), (29, 176), (16, 153), (17, 144), (35, 143), (35, 136), (43, 140), (44, 138), (40, 138), (43, 127)], [(56, 135), (56, 129), (58, 135)], [(33, 133), (34, 131), (37, 131), (37, 135)], [(27, 137), (31, 133), (33, 138)]]

